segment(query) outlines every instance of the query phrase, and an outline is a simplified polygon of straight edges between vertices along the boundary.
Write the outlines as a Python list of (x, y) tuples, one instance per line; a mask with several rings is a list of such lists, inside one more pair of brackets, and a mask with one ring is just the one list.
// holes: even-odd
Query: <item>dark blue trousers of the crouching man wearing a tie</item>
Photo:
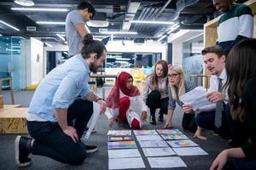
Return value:
[[(230, 136), (230, 127), (228, 126), (226, 111), (227, 105), (224, 105), (224, 111), (222, 111), (222, 125), (221, 127), (215, 127), (215, 110), (214, 111), (203, 111), (195, 115), (195, 122), (199, 127), (213, 130), (218, 133), (220, 136), (226, 138)], [(230, 113), (229, 113), (230, 114)]]

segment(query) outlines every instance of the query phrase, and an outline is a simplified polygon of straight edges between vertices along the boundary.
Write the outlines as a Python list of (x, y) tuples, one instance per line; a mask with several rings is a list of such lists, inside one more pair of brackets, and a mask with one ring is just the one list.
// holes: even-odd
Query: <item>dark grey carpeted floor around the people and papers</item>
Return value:
[[(27, 107), (30, 100), (32, 99), (33, 91), (16, 91), (15, 92), (15, 104), (23, 105)], [(9, 91), (3, 91), (4, 103), (10, 104)], [(18, 114), (18, 113), (17, 113)], [(181, 159), (187, 165), (186, 168), (161, 168), (161, 169), (191, 169), (191, 170), (204, 170), (209, 169), (214, 158), (218, 155), (221, 150), (229, 147), (227, 140), (221, 139), (218, 136), (212, 136), (209, 131), (204, 133), (207, 135), (207, 141), (201, 141), (200, 139), (193, 139), (193, 133), (183, 131), (181, 127), (181, 120), (183, 116), (183, 111), (180, 108), (177, 108), (174, 112), (172, 125), (175, 128), (180, 129), (184, 134), (186, 134), (189, 139), (192, 139), (196, 144), (199, 144), (203, 150), (206, 150), (209, 155), (207, 156), (180, 156)], [(157, 125), (153, 126), (147, 123), (143, 129), (160, 129), (164, 126), (164, 122), (158, 122)], [(54, 161), (48, 157), (44, 156), (33, 156), (32, 166), (30, 167), (17, 167), (15, 164), (15, 138), (17, 134), (0, 134), (0, 170), (2, 169), (89, 169), (89, 170), (98, 170), (98, 169), (108, 169), (108, 130), (109, 129), (122, 129), (117, 125), (115, 127), (109, 128), (108, 119), (106, 116), (101, 115), (97, 125), (96, 133), (93, 133), (90, 136), (89, 144), (96, 144), (98, 146), (98, 151), (96, 153), (88, 154), (87, 158), (84, 160), (84, 163), (80, 166), (69, 166), (67, 164), (62, 164), (60, 162)], [(27, 134), (24, 134), (27, 135)], [(141, 155), (143, 156), (143, 161), (146, 165), (146, 168), (151, 169), (147, 158), (143, 155), (139, 144), (138, 149), (140, 150)]]

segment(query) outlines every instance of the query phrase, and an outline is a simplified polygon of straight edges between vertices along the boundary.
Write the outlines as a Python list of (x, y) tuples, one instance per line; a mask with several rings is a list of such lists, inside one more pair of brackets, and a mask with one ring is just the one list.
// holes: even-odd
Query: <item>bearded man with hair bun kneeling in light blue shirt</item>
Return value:
[(82, 134), (93, 113), (92, 101), (106, 103), (88, 85), (90, 71), (103, 66), (106, 48), (88, 34), (81, 54), (50, 71), (32, 97), (27, 114), (27, 129), (31, 138), (15, 140), (15, 160), (20, 167), (31, 164), (30, 153), (48, 156), (55, 161), (79, 165), (86, 153), (97, 147), (81, 142)]

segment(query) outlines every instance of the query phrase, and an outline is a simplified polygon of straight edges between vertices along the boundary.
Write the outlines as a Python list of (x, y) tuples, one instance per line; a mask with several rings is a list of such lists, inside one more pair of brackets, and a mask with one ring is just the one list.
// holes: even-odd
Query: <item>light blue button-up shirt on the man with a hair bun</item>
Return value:
[(57, 122), (55, 109), (67, 109), (79, 96), (91, 92), (90, 69), (81, 54), (57, 66), (44, 77), (32, 97), (28, 114), (49, 122)]

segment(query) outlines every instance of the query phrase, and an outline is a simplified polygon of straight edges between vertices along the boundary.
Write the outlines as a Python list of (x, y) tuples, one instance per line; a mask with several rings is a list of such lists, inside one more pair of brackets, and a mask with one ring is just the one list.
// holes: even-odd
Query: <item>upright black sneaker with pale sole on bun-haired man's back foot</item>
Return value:
[(31, 165), (31, 159), (27, 157), (31, 153), (32, 139), (17, 136), (15, 139), (15, 161), (19, 167), (27, 167)]

